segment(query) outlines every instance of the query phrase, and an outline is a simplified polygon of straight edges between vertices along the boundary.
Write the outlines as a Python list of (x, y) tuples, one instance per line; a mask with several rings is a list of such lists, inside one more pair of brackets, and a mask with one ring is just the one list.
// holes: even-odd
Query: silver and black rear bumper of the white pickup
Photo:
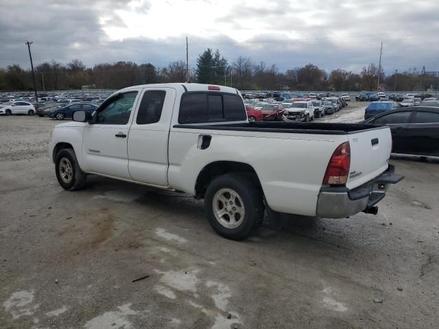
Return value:
[(372, 208), (385, 197), (388, 184), (396, 184), (403, 178), (394, 173), (394, 166), (390, 164), (387, 171), (353, 190), (346, 187), (322, 187), (318, 195), (317, 215), (343, 218)]

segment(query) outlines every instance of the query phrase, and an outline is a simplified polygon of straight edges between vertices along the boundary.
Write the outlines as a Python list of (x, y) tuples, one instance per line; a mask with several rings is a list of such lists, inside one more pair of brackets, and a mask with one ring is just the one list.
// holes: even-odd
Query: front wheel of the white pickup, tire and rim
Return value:
[(79, 190), (86, 183), (87, 175), (81, 170), (73, 149), (62, 149), (56, 154), (55, 171), (58, 183), (67, 191)]

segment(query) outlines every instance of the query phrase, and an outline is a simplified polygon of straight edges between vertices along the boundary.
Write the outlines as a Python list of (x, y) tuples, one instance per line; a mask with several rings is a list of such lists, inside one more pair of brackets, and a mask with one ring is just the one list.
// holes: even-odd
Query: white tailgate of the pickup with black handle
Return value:
[(371, 128), (348, 134), (351, 168), (346, 187), (360, 186), (388, 168), (392, 135), (389, 127)]

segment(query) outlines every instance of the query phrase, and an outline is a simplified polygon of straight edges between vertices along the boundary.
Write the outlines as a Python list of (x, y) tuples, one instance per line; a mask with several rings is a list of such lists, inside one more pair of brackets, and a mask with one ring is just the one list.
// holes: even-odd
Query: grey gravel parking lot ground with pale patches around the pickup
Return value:
[(0, 117), (0, 328), (438, 328), (438, 164), (392, 160), (405, 180), (377, 216), (235, 242), (187, 195), (93, 176), (64, 191), (57, 123)]

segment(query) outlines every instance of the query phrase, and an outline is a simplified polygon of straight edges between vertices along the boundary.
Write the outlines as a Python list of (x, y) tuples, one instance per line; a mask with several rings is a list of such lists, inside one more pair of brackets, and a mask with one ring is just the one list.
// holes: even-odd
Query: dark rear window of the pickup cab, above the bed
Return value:
[(226, 93), (185, 93), (181, 97), (179, 123), (246, 120), (241, 97)]

